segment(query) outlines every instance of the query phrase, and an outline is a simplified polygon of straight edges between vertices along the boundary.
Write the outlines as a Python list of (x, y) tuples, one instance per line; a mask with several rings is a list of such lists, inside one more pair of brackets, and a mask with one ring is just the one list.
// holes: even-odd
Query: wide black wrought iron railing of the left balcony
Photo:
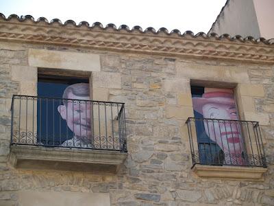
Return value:
[(127, 152), (125, 104), (12, 97), (11, 144)]

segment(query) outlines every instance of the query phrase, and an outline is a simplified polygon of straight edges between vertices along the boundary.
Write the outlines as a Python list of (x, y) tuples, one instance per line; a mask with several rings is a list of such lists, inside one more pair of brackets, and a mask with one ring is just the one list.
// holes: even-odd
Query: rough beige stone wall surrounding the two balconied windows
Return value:
[[(118, 174), (18, 170), (7, 163), (12, 95), (27, 94), (27, 88), (35, 87), (32, 78), (37, 76), (37, 70), (29, 67), (29, 48), (100, 55), (101, 71), (92, 75), (93, 98), (125, 102), (128, 157)], [(19, 80), (23, 74), (16, 76), (21, 69), (29, 69), (29, 75), (24, 77), (29, 78), (26, 81), (29, 84)], [(111, 205), (117, 206), (273, 205), (273, 78), (273, 65), (256, 62), (171, 58), (1, 41), (0, 205), (20, 205), (18, 193), (25, 190), (45, 194), (108, 193)], [(243, 106), (242, 117), (262, 122), (269, 163), (264, 181), (201, 179), (192, 174), (185, 124), (187, 117), (193, 116), (190, 80), (214, 85), (225, 82), (242, 93), (238, 95)], [(245, 101), (249, 104), (242, 103)]]

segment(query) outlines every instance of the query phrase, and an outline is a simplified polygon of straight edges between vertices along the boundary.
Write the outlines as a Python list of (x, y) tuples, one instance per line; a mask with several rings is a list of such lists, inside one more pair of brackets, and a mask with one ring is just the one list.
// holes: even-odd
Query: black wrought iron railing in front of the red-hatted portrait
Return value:
[(258, 122), (189, 117), (192, 164), (266, 168)]

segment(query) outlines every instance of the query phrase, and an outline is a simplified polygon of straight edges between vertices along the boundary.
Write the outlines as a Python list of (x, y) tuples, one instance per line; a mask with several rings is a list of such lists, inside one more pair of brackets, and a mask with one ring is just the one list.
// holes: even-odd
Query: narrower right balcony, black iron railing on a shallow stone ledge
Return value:
[(258, 122), (189, 117), (186, 124), (197, 176), (263, 179), (266, 156)]

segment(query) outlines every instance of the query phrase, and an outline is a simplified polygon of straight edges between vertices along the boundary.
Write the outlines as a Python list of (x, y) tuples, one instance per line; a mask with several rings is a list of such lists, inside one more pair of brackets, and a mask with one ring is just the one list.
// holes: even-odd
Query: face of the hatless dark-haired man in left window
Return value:
[[(69, 92), (68, 99), (73, 100), (90, 100), (88, 96), (77, 96)], [(66, 105), (60, 105), (58, 111), (63, 119), (66, 120), (67, 126), (74, 135), (82, 141), (91, 137), (90, 127), (90, 102), (68, 100)]]

